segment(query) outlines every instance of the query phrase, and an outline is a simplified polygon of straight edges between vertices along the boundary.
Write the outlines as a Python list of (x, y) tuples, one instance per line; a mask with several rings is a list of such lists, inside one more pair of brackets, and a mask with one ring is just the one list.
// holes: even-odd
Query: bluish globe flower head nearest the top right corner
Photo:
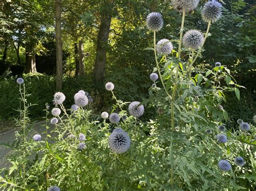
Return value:
[(222, 5), (215, 1), (208, 1), (202, 10), (202, 17), (205, 22), (216, 22), (222, 15), (221, 13)]

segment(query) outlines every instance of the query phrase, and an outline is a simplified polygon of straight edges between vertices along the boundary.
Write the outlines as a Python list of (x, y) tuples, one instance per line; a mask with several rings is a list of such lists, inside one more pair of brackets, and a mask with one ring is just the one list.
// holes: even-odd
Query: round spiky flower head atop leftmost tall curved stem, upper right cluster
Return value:
[(150, 31), (160, 31), (164, 25), (163, 17), (159, 12), (151, 12), (146, 19), (147, 29)]

